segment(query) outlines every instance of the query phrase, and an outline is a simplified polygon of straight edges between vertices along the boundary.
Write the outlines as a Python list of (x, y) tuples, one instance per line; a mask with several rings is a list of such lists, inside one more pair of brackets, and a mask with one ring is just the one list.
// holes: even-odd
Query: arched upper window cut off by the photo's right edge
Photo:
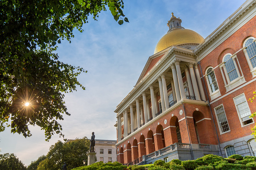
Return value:
[(244, 47), (248, 54), (249, 60), (252, 63), (252, 68), (256, 67), (256, 43), (253, 38), (249, 38), (245, 41)]

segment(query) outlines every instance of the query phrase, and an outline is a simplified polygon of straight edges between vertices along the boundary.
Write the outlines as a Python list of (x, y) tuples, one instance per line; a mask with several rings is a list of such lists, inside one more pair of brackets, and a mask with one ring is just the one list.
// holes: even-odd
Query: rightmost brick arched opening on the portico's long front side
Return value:
[(174, 143), (182, 143), (181, 135), (180, 135), (180, 125), (178, 118), (176, 116), (172, 116), (170, 120), (170, 129), (172, 135), (172, 144)]

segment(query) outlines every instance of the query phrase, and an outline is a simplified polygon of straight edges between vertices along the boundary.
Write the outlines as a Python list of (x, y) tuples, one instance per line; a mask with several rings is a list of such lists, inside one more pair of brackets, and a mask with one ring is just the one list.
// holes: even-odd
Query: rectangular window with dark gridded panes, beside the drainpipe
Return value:
[(228, 120), (223, 105), (214, 108), (221, 133), (229, 131)]

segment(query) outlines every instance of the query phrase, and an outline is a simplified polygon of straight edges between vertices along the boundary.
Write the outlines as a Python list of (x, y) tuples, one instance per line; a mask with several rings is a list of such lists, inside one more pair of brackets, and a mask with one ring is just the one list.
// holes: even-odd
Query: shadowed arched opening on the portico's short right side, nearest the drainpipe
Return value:
[(193, 120), (194, 120), (194, 127), (196, 131), (197, 142), (199, 144), (200, 143), (210, 144), (211, 135), (213, 136), (212, 126), (211, 124), (209, 124), (209, 120), (204, 118), (205, 117), (201, 112), (199, 111), (193, 112)]

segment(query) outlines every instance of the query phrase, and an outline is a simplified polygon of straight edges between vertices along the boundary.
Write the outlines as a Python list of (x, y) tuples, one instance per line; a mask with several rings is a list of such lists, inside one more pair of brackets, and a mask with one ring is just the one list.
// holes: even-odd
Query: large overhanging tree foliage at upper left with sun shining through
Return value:
[(64, 92), (85, 90), (77, 76), (87, 71), (59, 61), (56, 44), (71, 42), (73, 29), (83, 32), (88, 17), (97, 20), (106, 7), (118, 24), (129, 22), (123, 0), (1, 0), (0, 132), (11, 126), (29, 137), (30, 124), (45, 131), (46, 141), (54, 133), (64, 137)]

